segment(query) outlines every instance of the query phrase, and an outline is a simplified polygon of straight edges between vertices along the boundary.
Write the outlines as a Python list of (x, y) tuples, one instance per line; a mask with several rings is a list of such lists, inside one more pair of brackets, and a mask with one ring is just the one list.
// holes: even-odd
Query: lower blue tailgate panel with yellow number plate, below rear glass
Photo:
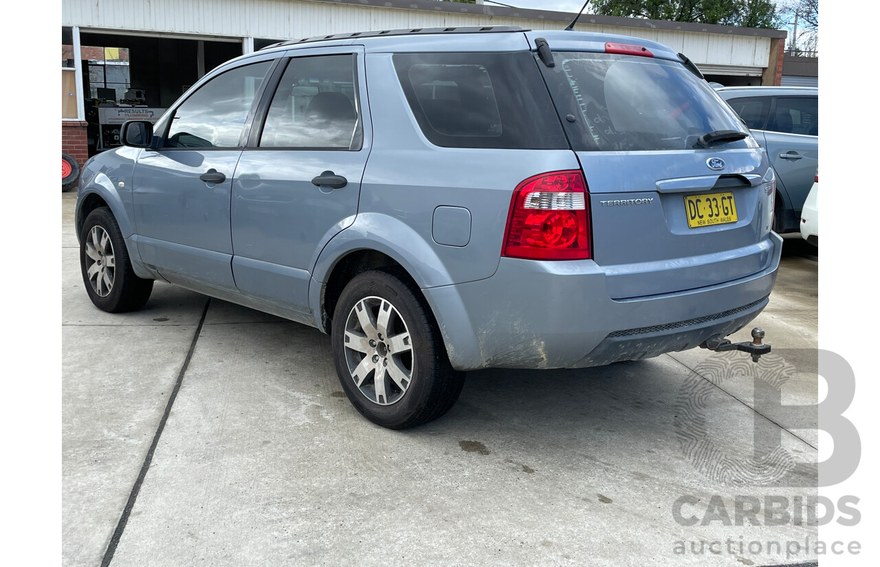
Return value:
[[(708, 169), (711, 155), (578, 152), (590, 192), (593, 258), (605, 268), (612, 298), (711, 286), (770, 265), (764, 152), (724, 152), (727, 173)], [(694, 210), (698, 200), (714, 201)]]

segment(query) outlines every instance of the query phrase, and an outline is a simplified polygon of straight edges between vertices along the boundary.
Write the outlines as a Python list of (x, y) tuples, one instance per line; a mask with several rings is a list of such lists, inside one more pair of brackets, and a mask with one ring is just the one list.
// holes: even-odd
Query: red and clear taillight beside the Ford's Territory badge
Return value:
[(542, 173), (517, 185), (505, 235), (502, 256), (508, 258), (590, 258), (590, 215), (583, 173)]

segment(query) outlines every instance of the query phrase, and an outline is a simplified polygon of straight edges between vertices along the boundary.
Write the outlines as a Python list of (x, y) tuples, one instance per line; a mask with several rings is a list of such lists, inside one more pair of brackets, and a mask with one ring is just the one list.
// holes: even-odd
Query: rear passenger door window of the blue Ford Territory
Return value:
[(260, 148), (361, 149), (355, 55), (290, 60), (269, 105)]

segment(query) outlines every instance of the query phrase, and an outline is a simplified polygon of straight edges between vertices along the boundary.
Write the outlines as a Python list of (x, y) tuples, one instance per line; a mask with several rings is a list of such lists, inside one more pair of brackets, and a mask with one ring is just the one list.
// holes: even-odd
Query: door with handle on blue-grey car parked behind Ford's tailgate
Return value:
[(818, 166), (818, 98), (776, 97), (764, 134), (770, 161), (799, 218)]

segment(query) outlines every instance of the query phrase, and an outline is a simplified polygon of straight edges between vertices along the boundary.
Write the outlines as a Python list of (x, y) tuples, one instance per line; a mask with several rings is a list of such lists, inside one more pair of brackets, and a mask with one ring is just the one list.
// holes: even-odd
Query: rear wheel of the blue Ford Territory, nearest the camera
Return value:
[(331, 335), (342, 389), (373, 423), (414, 427), (458, 400), (465, 374), (451, 367), (434, 316), (402, 274), (370, 271), (348, 282)]

